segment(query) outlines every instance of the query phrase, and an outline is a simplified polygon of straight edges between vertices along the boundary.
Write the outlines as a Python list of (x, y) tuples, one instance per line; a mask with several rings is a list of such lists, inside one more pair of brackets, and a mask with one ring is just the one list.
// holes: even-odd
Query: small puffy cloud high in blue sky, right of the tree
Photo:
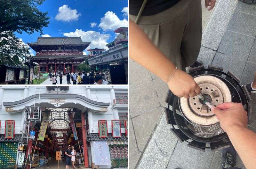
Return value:
[(78, 17), (81, 16), (81, 13), (77, 13), (76, 9), (71, 9), (68, 5), (63, 5), (59, 7), (59, 13), (55, 16), (56, 20), (62, 21), (72, 21), (78, 20)]

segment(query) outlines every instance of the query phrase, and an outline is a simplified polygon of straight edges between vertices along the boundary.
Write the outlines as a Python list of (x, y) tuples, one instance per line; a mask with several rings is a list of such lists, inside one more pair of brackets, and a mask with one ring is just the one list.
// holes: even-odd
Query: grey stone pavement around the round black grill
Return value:
[[(202, 9), (205, 26), (198, 61), (224, 67), (241, 78), (241, 84), (251, 83), (256, 70), (256, 5), (219, 0), (212, 13), (204, 4)], [(220, 151), (200, 152), (177, 141), (163, 112), (167, 85), (136, 62), (129, 62), (129, 168), (221, 168)], [(254, 131), (255, 111), (253, 107), (249, 121)], [(244, 168), (240, 158), (237, 167)]]

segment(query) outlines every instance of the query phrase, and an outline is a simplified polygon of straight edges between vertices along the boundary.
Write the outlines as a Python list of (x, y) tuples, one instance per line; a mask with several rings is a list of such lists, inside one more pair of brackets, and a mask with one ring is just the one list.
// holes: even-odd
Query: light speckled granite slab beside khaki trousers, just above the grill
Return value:
[(212, 64), (215, 53), (216, 50), (201, 46), (197, 61), (203, 63), (203, 65), (207, 67)]

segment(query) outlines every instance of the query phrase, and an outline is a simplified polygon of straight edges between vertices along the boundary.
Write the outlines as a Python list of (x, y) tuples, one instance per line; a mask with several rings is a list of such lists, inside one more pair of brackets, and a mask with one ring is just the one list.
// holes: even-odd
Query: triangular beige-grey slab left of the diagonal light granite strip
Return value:
[(137, 139), (139, 151), (142, 152), (147, 145), (148, 139), (153, 133), (156, 127), (156, 123), (159, 121), (163, 110), (163, 107), (158, 107), (132, 118), (134, 133)]

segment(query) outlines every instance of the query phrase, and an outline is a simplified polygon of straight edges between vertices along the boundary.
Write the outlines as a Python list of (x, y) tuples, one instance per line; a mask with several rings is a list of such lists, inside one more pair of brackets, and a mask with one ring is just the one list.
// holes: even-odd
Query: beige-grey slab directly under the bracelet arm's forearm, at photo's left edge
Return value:
[(129, 64), (129, 87), (133, 88), (145, 82), (152, 80), (148, 70), (140, 66), (137, 62)]

